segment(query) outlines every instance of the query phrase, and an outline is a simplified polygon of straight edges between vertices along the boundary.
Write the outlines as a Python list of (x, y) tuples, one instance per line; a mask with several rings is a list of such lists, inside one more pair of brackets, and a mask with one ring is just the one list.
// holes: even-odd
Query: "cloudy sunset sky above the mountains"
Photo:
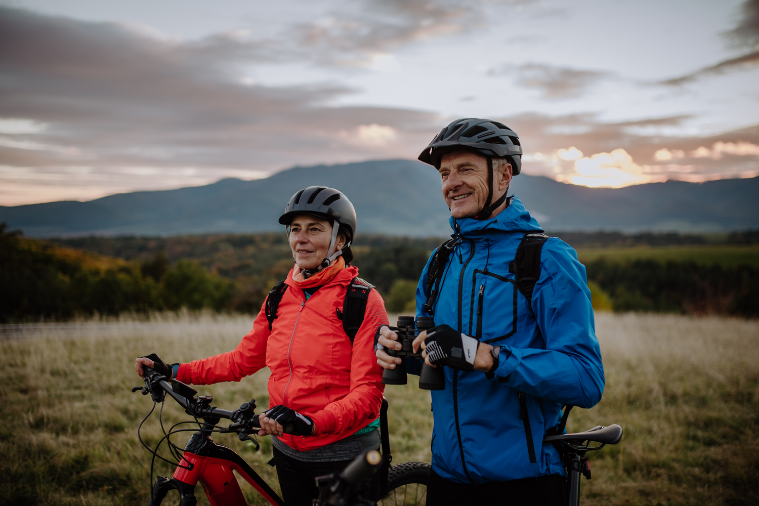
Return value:
[(524, 173), (759, 175), (759, 0), (0, 0), (0, 205), (416, 158), (486, 117)]

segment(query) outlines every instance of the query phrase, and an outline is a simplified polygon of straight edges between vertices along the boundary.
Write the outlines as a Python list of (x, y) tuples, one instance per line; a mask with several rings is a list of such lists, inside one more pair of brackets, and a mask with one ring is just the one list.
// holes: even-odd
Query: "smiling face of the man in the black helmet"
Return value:
[[(509, 177), (505, 181), (503, 172), (496, 174), (493, 200), (505, 191), (511, 181), (511, 171), (507, 171)], [(451, 215), (454, 218), (476, 216), (487, 202), (487, 159), (469, 151), (449, 152), (440, 160), (439, 173), (442, 196), (451, 208)]]

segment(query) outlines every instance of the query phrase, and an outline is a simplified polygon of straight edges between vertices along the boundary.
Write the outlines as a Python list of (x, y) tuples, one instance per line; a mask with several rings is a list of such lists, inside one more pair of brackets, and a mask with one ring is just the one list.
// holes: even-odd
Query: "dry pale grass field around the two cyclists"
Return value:
[[(130, 391), (141, 383), (134, 357), (217, 354), (235, 347), (251, 324), (247, 316), (159, 315), (0, 334), (0, 503), (146, 504), (150, 454), (137, 426), (153, 403)], [(597, 407), (573, 411), (568, 429), (619, 423), (625, 437), (591, 455), (582, 504), (759, 503), (759, 322), (599, 313), (597, 334), (606, 391)], [(268, 402), (264, 371), (199, 390), (219, 407)], [(386, 389), (395, 463), (429, 461), (429, 396), (413, 379)], [(161, 435), (156, 414), (143, 426), (152, 444)], [(171, 401), (163, 415), (165, 424), (187, 418)], [(258, 453), (234, 435), (215, 440), (279, 489), (266, 465), (269, 438)], [(157, 470), (171, 473), (168, 464)]]

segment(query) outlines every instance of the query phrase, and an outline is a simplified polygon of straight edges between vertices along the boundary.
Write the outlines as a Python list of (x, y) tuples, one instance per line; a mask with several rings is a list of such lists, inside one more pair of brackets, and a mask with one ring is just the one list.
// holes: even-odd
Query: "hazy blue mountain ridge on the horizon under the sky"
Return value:
[[(335, 187), (356, 206), (358, 231), (415, 237), (450, 234), (439, 178), (429, 165), (385, 160), (295, 167), (256, 181), (119, 193), (90, 202), (0, 206), (0, 222), (33, 237), (279, 231), (289, 197)], [(759, 227), (759, 178), (606, 189), (521, 174), (515, 193), (551, 231), (732, 231)]]

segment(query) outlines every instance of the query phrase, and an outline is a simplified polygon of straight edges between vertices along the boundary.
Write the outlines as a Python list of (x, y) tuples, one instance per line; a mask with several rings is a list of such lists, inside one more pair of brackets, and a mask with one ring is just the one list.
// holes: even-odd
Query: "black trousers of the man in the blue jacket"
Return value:
[(566, 478), (559, 474), (509, 482), (457, 483), (430, 472), (427, 506), (502, 504), (503, 506), (566, 506)]

